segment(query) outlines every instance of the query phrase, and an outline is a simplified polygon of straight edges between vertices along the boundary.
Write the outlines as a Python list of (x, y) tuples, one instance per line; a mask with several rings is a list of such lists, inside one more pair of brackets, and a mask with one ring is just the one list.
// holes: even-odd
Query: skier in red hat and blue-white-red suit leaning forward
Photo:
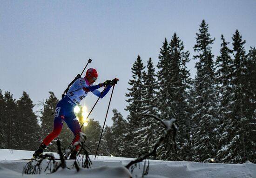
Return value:
[[(49, 133), (46, 138), (44, 138), (39, 148), (34, 152), (34, 158), (40, 158), (43, 156), (43, 151), (47, 147), (47, 145), (60, 134), (64, 121), (66, 122), (69, 129), (74, 133), (74, 135), (79, 131), (80, 124), (74, 114), (74, 107), (80, 104), (81, 100), (87, 96), (88, 92), (92, 92), (97, 97), (103, 98), (108, 93), (111, 86), (115, 85), (118, 81), (118, 79), (106, 80), (104, 83), (100, 83), (94, 86), (93, 83), (96, 81), (97, 78), (97, 71), (93, 68), (90, 68), (87, 70), (86, 76), (84, 78), (81, 77), (75, 80), (73, 85), (70, 86), (67, 94), (62, 97), (62, 99), (56, 105), (54, 116), (54, 130)], [(102, 86), (105, 86), (106, 89), (101, 94), (101, 92), (97, 89), (101, 88)], [(81, 132), (81, 130), (79, 132)], [(74, 144), (78, 140), (79, 134), (77, 134), (72, 144)], [(69, 159), (75, 159), (76, 154), (77, 150), (71, 152)]]

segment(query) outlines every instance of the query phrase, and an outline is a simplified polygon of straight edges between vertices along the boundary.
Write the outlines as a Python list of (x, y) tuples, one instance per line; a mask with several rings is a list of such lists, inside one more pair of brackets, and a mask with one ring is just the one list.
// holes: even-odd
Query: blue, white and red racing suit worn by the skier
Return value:
[[(102, 84), (96, 86), (90, 85), (86, 77), (75, 80), (73, 85), (70, 86), (67, 91), (67, 94), (56, 105), (54, 130), (46, 136), (42, 143), (48, 145), (55, 137), (57, 137), (61, 132), (64, 121), (75, 135), (79, 131), (80, 125), (74, 114), (74, 107), (80, 104), (81, 100), (87, 96), (88, 92), (92, 92), (97, 97), (103, 98), (108, 93), (111, 86), (107, 86), (102, 94), (97, 90), (101, 86)], [(78, 140), (79, 134), (77, 134), (74, 142)]]

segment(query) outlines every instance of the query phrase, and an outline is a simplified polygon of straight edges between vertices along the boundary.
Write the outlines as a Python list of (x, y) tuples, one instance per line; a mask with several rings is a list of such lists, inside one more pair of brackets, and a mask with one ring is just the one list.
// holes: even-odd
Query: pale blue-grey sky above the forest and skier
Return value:
[[(88, 68), (97, 69), (96, 84), (120, 79), (106, 122), (112, 125), (113, 108), (124, 118), (128, 115), (125, 93), (137, 56), (144, 65), (152, 58), (156, 66), (165, 38), (169, 42), (177, 33), (190, 52), (187, 66), (195, 76), (193, 46), (203, 19), (216, 39), (215, 59), (221, 34), (232, 42), (236, 29), (246, 40), (247, 52), (256, 46), (256, 0), (0, 0), (0, 89), (15, 99), (27, 92), (38, 111), (49, 91), (61, 99), (92, 59)], [(101, 125), (110, 94), (99, 100), (89, 117)], [(81, 104), (90, 110), (96, 100), (90, 93)]]

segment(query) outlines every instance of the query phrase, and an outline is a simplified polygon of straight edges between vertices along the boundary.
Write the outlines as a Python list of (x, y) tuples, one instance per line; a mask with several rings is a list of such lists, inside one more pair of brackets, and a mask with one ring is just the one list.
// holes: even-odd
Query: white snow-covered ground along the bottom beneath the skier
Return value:
[[(32, 151), (0, 149), (0, 178), (18, 178), (22, 176), (23, 166), (28, 161), (15, 159), (31, 158)], [(57, 158), (57, 153), (54, 153)], [(23, 174), (23, 178), (141, 178), (144, 162), (135, 170), (127, 170), (127, 165), (133, 158), (103, 157), (93, 159), (91, 169), (59, 169), (47, 174)], [(44, 160), (44, 169), (49, 160)], [(67, 167), (72, 168), (73, 160), (67, 160)], [(244, 164), (213, 164), (186, 161), (149, 160), (149, 172), (144, 178), (256, 178), (256, 164), (247, 161)]]

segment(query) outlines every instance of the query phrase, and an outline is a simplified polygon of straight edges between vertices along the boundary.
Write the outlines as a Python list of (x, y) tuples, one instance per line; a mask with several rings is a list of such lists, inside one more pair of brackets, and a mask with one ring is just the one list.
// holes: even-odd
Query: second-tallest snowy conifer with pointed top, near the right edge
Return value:
[(247, 160), (247, 127), (249, 123), (249, 95), (248, 79), (246, 78), (246, 52), (244, 49), (245, 41), (242, 35), (236, 30), (232, 37), (234, 55), (234, 94), (232, 98), (231, 122), (229, 127), (233, 132), (230, 133), (230, 143), (227, 146), (230, 163), (243, 163)]

